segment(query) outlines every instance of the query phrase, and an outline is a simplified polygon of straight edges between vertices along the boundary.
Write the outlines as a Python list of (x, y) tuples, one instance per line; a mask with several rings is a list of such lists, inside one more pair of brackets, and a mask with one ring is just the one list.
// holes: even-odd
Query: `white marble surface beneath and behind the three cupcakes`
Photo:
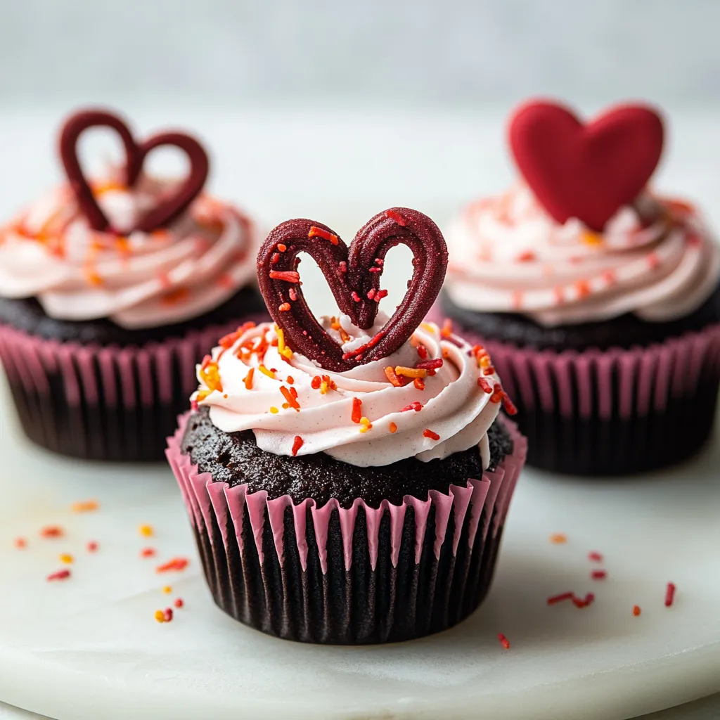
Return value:
[[(256, 209), (269, 225), (305, 215), (350, 237), (392, 204), (418, 207), (442, 224), (463, 199), (500, 189), (510, 178), (497, 115), (138, 115), (143, 129), (168, 117), (198, 127), (213, 149), (222, 148), (215, 152), (217, 192)], [(0, 175), (2, 217), (52, 181), (49, 138), (56, 122), (48, 113), (0, 114), (0, 149), (12, 168)], [(716, 123), (707, 114), (677, 119), (675, 153), (662, 168), (660, 186), (704, 202), (717, 221)], [(194, 703), (202, 701), (207, 710), (212, 688), (214, 720), (228, 707), (235, 717), (238, 703), (246, 703), (248, 716), (258, 716), (249, 706), (264, 701), (285, 701), (296, 716), (317, 718), (317, 706), (304, 704), (308, 697), (350, 683), (363, 706), (355, 709), (366, 716), (388, 708), (401, 716), (415, 703), (432, 713), (433, 703), (441, 702), (458, 717), (463, 707), (474, 717), (481, 708), (498, 718), (522, 717), (517, 713), (531, 708), (538, 719), (575, 719), (581, 711), (588, 720), (612, 720), (720, 690), (717, 441), (697, 462), (652, 482), (574, 484), (526, 474), (495, 588), (479, 613), (433, 639), (324, 652), (265, 638), (222, 616), (197, 562), (173, 583), (187, 608), (174, 624), (156, 624), (153, 611), (166, 602), (152, 566), (137, 559), (145, 543), (136, 526), (158, 528), (155, 544), (163, 557), (193, 553), (168, 472), (80, 466), (31, 451), (17, 440), (10, 418), (0, 410), (6, 457), (0, 487), (8, 498), (0, 506), (0, 572), (3, 590), (11, 588), (0, 594), (5, 701), (59, 720), (153, 718), (168, 708), (178, 720), (195, 720)], [(101, 512), (68, 513), (89, 488)], [(57, 586), (44, 577), (55, 569), (59, 545), (35, 536), (25, 554), (11, 547), (17, 534), (32, 535), (53, 521), (71, 531), (62, 549), (79, 556), (90, 535), (103, 543), (102, 554), (78, 559), (73, 582)], [(559, 530), (570, 543), (550, 545), (548, 534)], [(602, 584), (588, 580), (590, 549), (608, 557), (610, 577)], [(678, 605), (666, 611), (662, 595), (670, 579), (680, 590)], [(566, 585), (578, 592), (592, 588), (598, 602), (585, 612), (546, 608), (544, 598)], [(640, 618), (630, 614), (634, 603), (644, 608)], [(499, 630), (513, 643), (509, 652), (498, 647)], [(235, 672), (229, 675), (228, 667)], [(302, 686), (278, 688), (278, 672)], [(248, 678), (253, 683), (240, 692), (238, 683)], [(104, 705), (108, 698), (112, 712)], [(327, 699), (332, 708), (333, 696)], [(338, 713), (352, 711), (344, 701)]]

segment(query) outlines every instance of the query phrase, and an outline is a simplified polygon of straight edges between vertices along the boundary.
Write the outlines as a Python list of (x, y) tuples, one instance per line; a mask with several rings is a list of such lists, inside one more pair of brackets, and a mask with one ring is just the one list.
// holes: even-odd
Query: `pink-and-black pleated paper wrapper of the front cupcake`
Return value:
[(467, 487), (345, 509), (213, 482), (181, 452), (188, 418), (166, 454), (215, 603), (230, 616), (301, 642), (395, 642), (446, 629), (485, 597), (526, 455), (513, 423), (513, 454)]

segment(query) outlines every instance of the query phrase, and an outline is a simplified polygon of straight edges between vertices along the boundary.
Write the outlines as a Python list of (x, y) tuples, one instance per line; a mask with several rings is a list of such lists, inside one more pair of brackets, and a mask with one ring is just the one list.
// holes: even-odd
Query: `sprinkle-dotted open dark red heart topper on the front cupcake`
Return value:
[[(340, 311), (354, 325), (367, 329), (374, 324), (379, 300), (387, 294), (380, 290), (380, 276), (385, 254), (396, 245), (408, 246), (413, 252), (408, 292), (369, 343), (343, 353), (307, 307), (297, 255), (305, 252), (315, 259)], [(413, 334), (440, 292), (447, 261), (447, 247), (438, 226), (417, 210), (393, 207), (358, 230), (350, 248), (320, 222), (282, 222), (258, 253), (258, 282), (270, 315), (284, 330), (289, 346), (326, 370), (344, 372), (387, 357)]]

